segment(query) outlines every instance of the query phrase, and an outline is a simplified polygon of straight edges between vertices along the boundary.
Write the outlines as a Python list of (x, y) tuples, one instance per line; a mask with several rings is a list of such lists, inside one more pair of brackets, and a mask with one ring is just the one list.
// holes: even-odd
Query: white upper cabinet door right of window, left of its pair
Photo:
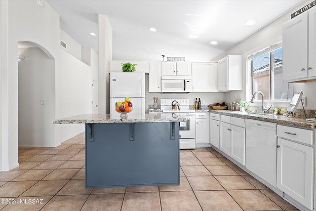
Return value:
[(283, 80), (308, 76), (308, 12), (283, 24)]

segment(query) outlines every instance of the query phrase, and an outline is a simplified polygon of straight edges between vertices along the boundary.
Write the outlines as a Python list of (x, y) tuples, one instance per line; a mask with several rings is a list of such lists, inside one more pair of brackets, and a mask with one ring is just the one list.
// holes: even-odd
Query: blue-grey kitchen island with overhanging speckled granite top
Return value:
[(80, 115), (54, 124), (85, 124), (86, 187), (126, 187), (180, 184), (179, 122), (186, 120)]

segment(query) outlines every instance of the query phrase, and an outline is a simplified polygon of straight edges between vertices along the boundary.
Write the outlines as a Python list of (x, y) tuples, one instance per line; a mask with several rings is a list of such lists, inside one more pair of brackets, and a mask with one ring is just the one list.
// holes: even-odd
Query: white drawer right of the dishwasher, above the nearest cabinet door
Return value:
[(314, 144), (314, 130), (278, 125), (277, 136), (305, 144)]

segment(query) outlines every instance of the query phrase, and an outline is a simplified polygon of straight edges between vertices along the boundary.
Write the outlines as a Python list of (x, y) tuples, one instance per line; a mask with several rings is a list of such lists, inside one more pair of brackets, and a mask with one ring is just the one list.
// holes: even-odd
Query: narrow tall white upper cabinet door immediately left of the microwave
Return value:
[(161, 91), (161, 62), (150, 62), (149, 92)]

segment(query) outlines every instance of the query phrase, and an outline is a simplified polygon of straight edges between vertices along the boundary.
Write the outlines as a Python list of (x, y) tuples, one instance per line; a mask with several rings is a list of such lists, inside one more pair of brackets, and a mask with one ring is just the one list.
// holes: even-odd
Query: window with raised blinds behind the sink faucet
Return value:
[[(283, 83), (282, 42), (247, 57), (251, 76), (251, 94), (262, 91), (269, 100), (288, 101), (293, 97), (293, 84)], [(260, 100), (261, 95), (256, 96)]]

